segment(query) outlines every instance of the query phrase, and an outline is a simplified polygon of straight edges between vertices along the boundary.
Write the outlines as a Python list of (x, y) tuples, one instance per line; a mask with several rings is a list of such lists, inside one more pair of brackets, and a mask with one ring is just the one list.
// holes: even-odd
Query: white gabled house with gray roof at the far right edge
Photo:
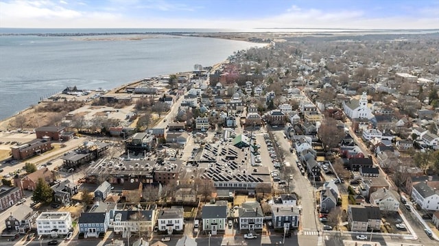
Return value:
[(439, 210), (439, 190), (435, 190), (426, 182), (419, 182), (413, 186), (412, 198), (425, 210)]

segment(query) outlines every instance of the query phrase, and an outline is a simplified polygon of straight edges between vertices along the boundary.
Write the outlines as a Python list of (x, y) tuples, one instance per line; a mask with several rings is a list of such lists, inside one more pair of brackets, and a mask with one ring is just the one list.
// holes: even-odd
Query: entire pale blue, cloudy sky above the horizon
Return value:
[(0, 0), (0, 27), (439, 29), (439, 0)]

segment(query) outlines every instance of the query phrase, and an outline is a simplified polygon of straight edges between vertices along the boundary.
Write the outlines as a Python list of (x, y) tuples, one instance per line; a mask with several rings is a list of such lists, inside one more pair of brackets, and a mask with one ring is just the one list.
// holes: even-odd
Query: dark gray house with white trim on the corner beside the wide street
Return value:
[(297, 206), (273, 205), (272, 223), (275, 229), (291, 230), (299, 226), (299, 209)]

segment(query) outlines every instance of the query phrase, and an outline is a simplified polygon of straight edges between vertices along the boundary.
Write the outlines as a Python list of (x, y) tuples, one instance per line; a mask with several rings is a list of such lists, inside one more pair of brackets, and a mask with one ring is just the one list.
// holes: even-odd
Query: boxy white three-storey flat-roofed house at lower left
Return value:
[(72, 229), (70, 212), (41, 212), (36, 218), (38, 235), (57, 237)]

